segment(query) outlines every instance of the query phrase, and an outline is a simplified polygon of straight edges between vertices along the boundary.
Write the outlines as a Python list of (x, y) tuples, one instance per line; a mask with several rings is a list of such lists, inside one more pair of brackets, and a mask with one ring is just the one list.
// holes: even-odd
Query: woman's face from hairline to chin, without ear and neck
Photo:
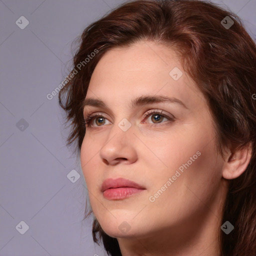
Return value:
[[(142, 96), (160, 100), (136, 100)], [(178, 236), (202, 219), (215, 222), (223, 189), (213, 121), (174, 49), (140, 41), (108, 50), (89, 98), (105, 106), (84, 107), (85, 118), (98, 116), (86, 125), (80, 159), (93, 213), (108, 235)], [(117, 178), (139, 186), (110, 180), (102, 190), (104, 180)]]

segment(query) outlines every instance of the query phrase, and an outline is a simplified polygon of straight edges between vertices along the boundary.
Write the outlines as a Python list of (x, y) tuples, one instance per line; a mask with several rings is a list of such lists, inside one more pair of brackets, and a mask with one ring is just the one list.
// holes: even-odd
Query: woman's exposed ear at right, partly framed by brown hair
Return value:
[(225, 156), (225, 161), (222, 167), (223, 178), (233, 179), (240, 176), (249, 164), (251, 153), (251, 142), (242, 149), (237, 149), (234, 152), (229, 151)]

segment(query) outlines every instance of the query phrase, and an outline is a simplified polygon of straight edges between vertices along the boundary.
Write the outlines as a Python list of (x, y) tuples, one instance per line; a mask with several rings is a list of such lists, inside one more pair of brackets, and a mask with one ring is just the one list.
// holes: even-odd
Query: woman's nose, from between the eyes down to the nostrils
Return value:
[(120, 162), (130, 164), (137, 160), (135, 140), (132, 125), (124, 131), (118, 123), (112, 125), (111, 130), (99, 151), (100, 158), (107, 165), (116, 165)]

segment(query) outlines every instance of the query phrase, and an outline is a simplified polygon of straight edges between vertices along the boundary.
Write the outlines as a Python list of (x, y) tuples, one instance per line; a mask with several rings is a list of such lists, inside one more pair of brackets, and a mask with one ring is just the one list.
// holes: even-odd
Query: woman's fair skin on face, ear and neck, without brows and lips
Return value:
[[(173, 67), (183, 73), (178, 80), (169, 75)], [(169, 102), (130, 108), (130, 100), (141, 95), (175, 97), (187, 108)], [(108, 50), (93, 71), (89, 97), (103, 100), (110, 109), (84, 108), (84, 117), (97, 112), (105, 122), (95, 118), (91, 127), (86, 125), (81, 167), (93, 213), (103, 230), (117, 238), (122, 255), (220, 255), (217, 235), (226, 179), (239, 176), (249, 157), (247, 150), (227, 151), (224, 159), (217, 152), (206, 100), (175, 50), (150, 41)], [(174, 120), (157, 122), (154, 113), (143, 118), (151, 109)], [(123, 118), (131, 124), (127, 131), (118, 126)], [(150, 201), (198, 151), (197, 159)], [(118, 177), (145, 189), (125, 199), (104, 198), (102, 182)], [(126, 232), (118, 228), (123, 221), (130, 228)]]

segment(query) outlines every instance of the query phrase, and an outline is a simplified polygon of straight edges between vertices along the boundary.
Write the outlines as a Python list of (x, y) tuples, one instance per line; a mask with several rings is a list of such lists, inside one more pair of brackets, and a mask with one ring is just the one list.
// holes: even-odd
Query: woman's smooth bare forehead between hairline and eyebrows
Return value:
[[(182, 74), (177, 80), (170, 76), (173, 69)], [(140, 41), (104, 53), (92, 73), (86, 97), (115, 99), (119, 104), (142, 94), (164, 94), (187, 102), (200, 93), (191, 95), (198, 90), (191, 90), (191, 86), (195, 85), (184, 72), (174, 48)]]

